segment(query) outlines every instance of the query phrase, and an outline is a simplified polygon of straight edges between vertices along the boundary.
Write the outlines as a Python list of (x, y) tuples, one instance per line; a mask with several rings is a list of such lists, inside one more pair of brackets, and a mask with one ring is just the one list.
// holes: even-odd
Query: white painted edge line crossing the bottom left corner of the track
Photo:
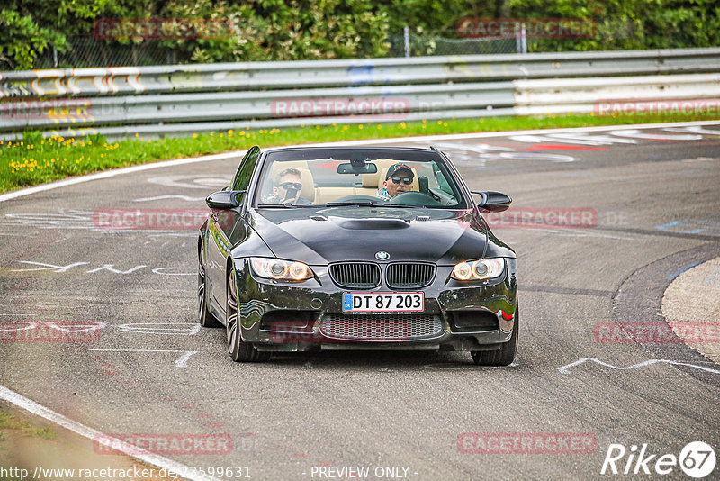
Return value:
[[(0, 399), (14, 404), (25, 411), (36, 414), (49, 422), (54, 422), (55, 424), (58, 424), (58, 426), (62, 426), (69, 431), (73, 431), (88, 440), (96, 440), (99, 436), (103, 436), (103, 439), (111, 440), (113, 445), (122, 446), (122, 441), (120, 439), (103, 434), (103, 432), (85, 426), (85, 424), (81, 424), (80, 422), (73, 421), (67, 416), (57, 413), (42, 404), (36, 403), (35, 401), (32, 401), (31, 399), (18, 394), (5, 386), (0, 386)], [(151, 466), (166, 469), (168, 471), (172, 470), (175, 473), (182, 473), (182, 477), (186, 479), (192, 479), (193, 481), (220, 481), (216, 477), (202, 476), (200, 473), (197, 473), (197, 471), (193, 473), (191, 468), (183, 463), (151, 453), (146, 449), (135, 447), (132, 453), (119, 452)]]

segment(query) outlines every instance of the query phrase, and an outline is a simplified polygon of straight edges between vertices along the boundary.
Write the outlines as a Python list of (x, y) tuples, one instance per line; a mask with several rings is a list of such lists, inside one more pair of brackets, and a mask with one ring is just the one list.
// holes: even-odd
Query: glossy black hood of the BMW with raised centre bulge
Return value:
[(248, 212), (250, 225), (275, 256), (308, 264), (375, 259), (454, 265), (482, 257), (488, 232), (472, 210), (365, 206), (279, 208)]

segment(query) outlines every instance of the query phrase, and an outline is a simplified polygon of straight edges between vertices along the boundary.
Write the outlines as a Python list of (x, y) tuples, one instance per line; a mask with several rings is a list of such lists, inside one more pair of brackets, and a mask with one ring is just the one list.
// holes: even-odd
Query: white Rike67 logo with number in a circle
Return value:
[(686, 475), (701, 479), (712, 473), (715, 466), (715, 449), (703, 441), (689, 442), (680, 450), (680, 457), (673, 453), (652, 453), (647, 444), (639, 450), (636, 445), (626, 449), (622, 444), (610, 444), (600, 474), (666, 476), (680, 467)]

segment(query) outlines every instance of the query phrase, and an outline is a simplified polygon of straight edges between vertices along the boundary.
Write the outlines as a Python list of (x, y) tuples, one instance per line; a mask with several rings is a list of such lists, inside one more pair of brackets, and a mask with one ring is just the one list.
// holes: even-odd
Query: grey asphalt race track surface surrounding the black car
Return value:
[[(233, 363), (225, 331), (195, 323), (197, 222), (108, 229), (98, 219), (203, 210), (238, 156), (0, 203), (0, 385), (115, 436), (229, 439), (221, 452), (159, 454), (247, 467), (253, 479), (347, 478), (349, 467), (368, 467), (369, 479), (595, 479), (611, 444), (627, 454), (605, 477), (630, 476), (631, 446), (647, 444), (653, 478), (689, 479), (678, 466), (658, 475), (656, 459), (690, 441), (718, 452), (720, 366), (682, 344), (610, 341), (598, 326), (663, 322), (671, 280), (720, 256), (720, 123), (374, 143), (437, 145), (476, 190), (588, 220), (496, 220), (518, 252), (509, 368), (417, 352)], [(94, 334), (15, 337), (80, 324)], [(518, 445), (521, 434), (539, 447)]]

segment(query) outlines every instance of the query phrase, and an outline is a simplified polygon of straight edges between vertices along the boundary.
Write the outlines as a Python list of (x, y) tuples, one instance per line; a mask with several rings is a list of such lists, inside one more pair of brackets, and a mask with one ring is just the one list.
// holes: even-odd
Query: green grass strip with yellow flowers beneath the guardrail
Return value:
[(309, 124), (302, 128), (211, 132), (156, 141), (136, 136), (135, 139), (116, 143), (105, 141), (101, 135), (63, 140), (42, 139), (40, 132), (24, 132), (23, 141), (0, 141), (0, 192), (109, 168), (194, 157), (227, 150), (244, 150), (256, 144), (264, 147), (413, 135), (662, 123), (716, 118), (692, 115), (596, 116), (571, 113), (408, 123), (338, 124), (326, 127), (312, 125), (309, 120)]

